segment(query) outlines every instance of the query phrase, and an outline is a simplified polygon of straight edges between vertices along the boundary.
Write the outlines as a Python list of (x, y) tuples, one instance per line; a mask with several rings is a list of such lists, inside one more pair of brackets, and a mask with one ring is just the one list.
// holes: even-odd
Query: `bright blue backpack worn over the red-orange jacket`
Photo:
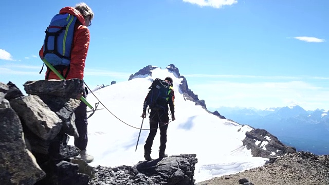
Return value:
[[(71, 45), (76, 21), (77, 17), (74, 15), (68, 13), (56, 14), (45, 31), (43, 57), (55, 69), (60, 70), (65, 79), (70, 67)], [(64, 76), (63, 70), (65, 68), (67, 68), (67, 72)], [(48, 79), (49, 72), (46, 79)]]

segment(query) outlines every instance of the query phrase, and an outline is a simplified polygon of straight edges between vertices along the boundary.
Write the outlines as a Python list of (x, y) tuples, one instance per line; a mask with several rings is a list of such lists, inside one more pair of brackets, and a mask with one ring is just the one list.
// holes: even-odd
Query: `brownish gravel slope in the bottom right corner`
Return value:
[(216, 177), (196, 184), (329, 184), (328, 155), (317, 156), (308, 152), (298, 152), (274, 160), (263, 167)]

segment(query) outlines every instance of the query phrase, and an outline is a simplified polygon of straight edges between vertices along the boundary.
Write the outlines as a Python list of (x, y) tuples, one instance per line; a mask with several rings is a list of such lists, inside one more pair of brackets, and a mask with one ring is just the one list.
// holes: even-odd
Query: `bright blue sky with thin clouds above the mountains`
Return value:
[[(39, 75), (44, 30), (80, 1), (4, 1), (0, 81)], [(126, 81), (175, 64), (208, 107), (329, 108), (329, 1), (85, 1), (95, 12), (85, 81)], [(22, 88), (23, 89), (23, 88)]]

